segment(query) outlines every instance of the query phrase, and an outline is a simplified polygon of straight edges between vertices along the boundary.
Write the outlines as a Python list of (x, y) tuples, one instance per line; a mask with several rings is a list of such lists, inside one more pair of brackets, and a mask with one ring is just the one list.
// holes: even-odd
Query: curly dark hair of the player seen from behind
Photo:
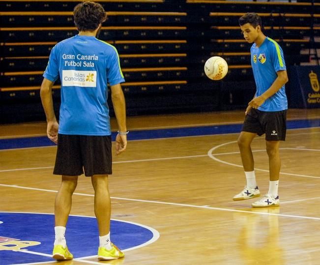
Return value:
[(86, 1), (73, 9), (74, 24), (79, 31), (93, 31), (107, 19), (107, 14), (99, 3)]

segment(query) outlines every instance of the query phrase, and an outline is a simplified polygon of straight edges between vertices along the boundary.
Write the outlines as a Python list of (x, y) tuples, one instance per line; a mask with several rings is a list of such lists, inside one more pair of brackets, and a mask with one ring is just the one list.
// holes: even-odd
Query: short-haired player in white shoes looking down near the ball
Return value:
[(279, 44), (262, 33), (262, 20), (258, 14), (245, 14), (239, 19), (239, 25), (245, 40), (253, 43), (250, 53), (257, 91), (248, 104), (238, 138), (247, 183), (245, 188), (233, 197), (233, 200), (247, 200), (260, 196), (251, 142), (256, 135), (265, 134), (266, 151), (269, 157), (269, 190), (252, 206), (279, 206), (278, 184), (281, 164), (279, 144), (280, 141), (285, 141), (287, 130), (286, 64)]

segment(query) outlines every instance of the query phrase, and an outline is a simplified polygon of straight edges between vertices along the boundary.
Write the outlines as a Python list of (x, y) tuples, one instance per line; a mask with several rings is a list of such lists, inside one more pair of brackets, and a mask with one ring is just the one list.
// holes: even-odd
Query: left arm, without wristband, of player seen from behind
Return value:
[(58, 143), (58, 122), (55, 115), (52, 99), (52, 86), (54, 82), (44, 78), (40, 88), (40, 97), (44, 112), (47, 117), (47, 135), (54, 143)]

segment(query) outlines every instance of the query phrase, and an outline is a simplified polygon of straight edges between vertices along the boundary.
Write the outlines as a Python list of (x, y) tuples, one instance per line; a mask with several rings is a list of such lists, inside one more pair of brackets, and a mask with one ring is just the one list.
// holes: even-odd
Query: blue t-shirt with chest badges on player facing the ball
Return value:
[[(251, 65), (257, 86), (257, 96), (271, 87), (277, 78), (277, 72), (286, 70), (283, 51), (279, 44), (270, 38), (265, 38), (262, 45), (251, 46)], [(258, 108), (261, 111), (283, 111), (288, 109), (285, 86), (269, 97)]]

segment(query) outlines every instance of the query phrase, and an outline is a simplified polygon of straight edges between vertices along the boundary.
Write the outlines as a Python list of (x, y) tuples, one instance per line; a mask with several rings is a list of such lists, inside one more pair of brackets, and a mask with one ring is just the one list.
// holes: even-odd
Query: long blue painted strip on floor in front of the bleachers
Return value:
[[(320, 119), (299, 119), (288, 120), (288, 129), (320, 127)], [(185, 127), (172, 129), (158, 129), (158, 130), (141, 130), (130, 131), (128, 140), (144, 140), (144, 139), (158, 139), (158, 138), (172, 138), (184, 136), (201, 136), (213, 134), (227, 134), (239, 133), (242, 128), (240, 124), (228, 125), (212, 125), (201, 127)], [(116, 133), (112, 134), (112, 140), (116, 138)], [(28, 137), (28, 138), (14, 138), (14, 139), (0, 139), (0, 149), (14, 149), (26, 147), (47, 147), (54, 146), (46, 136), (42, 137)]]

